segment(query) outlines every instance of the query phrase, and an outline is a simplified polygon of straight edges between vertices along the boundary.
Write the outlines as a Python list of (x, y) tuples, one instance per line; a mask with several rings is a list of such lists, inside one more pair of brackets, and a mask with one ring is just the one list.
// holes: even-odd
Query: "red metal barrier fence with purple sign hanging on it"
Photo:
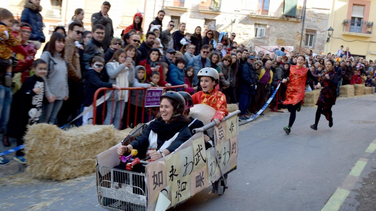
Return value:
[[(171, 91), (186, 91), (184, 89), (184, 86), (183, 85), (180, 85), (180, 86), (171, 86), (171, 87), (151, 87), (150, 89), (164, 89), (164, 92), (166, 90), (171, 90)], [(106, 91), (110, 91), (110, 90), (115, 90), (114, 88), (110, 89), (110, 88), (99, 88), (97, 89), (97, 91), (94, 93), (94, 98), (93, 98), (93, 125), (96, 125), (97, 123), (97, 99), (98, 99), (98, 96), (100, 95), (101, 92), (103, 92), (103, 95), (104, 95), (104, 98), (106, 99), (106, 95), (108, 94), (111, 94), (111, 93), (106, 93)], [(128, 90), (128, 101), (125, 102), (124, 99), (123, 100), (120, 100), (120, 111), (123, 110), (123, 106), (125, 104), (126, 108), (124, 109), (124, 112), (120, 112), (120, 124), (119, 124), (119, 130), (121, 130), (121, 122), (123, 121), (123, 115), (126, 114), (126, 122), (124, 122), (124, 124), (126, 123), (126, 125), (123, 126), (123, 128), (128, 128), (128, 127), (135, 127), (137, 124), (139, 123), (144, 123), (144, 122), (149, 122), (150, 120), (152, 120), (152, 118), (155, 115), (158, 114), (158, 110), (159, 110), (159, 106), (157, 107), (147, 107), (145, 108), (145, 90), (147, 90), (146, 88), (142, 88), (142, 87), (123, 87), (121, 88), (121, 90)], [(131, 96), (132, 96), (132, 92), (135, 92), (135, 95), (133, 94), (133, 96), (135, 96), (135, 99), (131, 99)], [(140, 106), (138, 106), (140, 103), (138, 102), (139, 101), (139, 95), (142, 94), (142, 99), (143, 99), (143, 102), (142, 102), (142, 109), (140, 108)], [(120, 92), (118, 92), (118, 95), (120, 95)], [(119, 96), (120, 98), (123, 98), (123, 92), (121, 92), (121, 95)], [(115, 95), (112, 94), (112, 97), (108, 98), (108, 100), (111, 100), (112, 98), (112, 101), (115, 100)], [(131, 101), (133, 101), (133, 103), (131, 103)], [(111, 124), (113, 124), (113, 118), (112, 116), (113, 113), (115, 112), (114, 111), (114, 104), (112, 104), (111, 107), (108, 107), (107, 109), (111, 109)], [(141, 109), (141, 112), (140, 112), (140, 109)], [(132, 112), (131, 112), (132, 110)], [(152, 111), (155, 111), (155, 112), (152, 112)], [(146, 112), (149, 112), (148, 114), (146, 114)], [(153, 114), (154, 113), (154, 114)], [(134, 115), (134, 118), (133, 116)], [(140, 116), (141, 115), (141, 116)], [(145, 118), (147, 115), (147, 119)], [(153, 115), (153, 116), (152, 116)], [(102, 109), (102, 125), (104, 125), (105, 123), (105, 116), (106, 116), (106, 100), (103, 102), (103, 109)], [(132, 119), (130, 119), (130, 117), (132, 117)]]

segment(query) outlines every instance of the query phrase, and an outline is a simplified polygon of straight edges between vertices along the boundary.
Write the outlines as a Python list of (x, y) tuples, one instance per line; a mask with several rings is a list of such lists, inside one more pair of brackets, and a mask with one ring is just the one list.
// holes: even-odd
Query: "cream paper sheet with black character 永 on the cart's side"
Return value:
[(167, 185), (171, 185), (176, 178), (182, 177), (182, 175), (180, 175), (180, 167), (182, 165), (180, 163), (180, 151), (167, 156), (165, 163)]

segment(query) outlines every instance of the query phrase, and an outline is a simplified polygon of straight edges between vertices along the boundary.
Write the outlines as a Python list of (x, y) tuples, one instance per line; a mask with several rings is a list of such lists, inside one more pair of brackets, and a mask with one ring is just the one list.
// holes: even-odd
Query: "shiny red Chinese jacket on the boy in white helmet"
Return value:
[(210, 105), (216, 110), (212, 120), (217, 118), (222, 121), (224, 116), (229, 114), (229, 110), (227, 110), (226, 96), (217, 89), (212, 89), (207, 93), (203, 91), (197, 92), (192, 95), (192, 99), (193, 104)]

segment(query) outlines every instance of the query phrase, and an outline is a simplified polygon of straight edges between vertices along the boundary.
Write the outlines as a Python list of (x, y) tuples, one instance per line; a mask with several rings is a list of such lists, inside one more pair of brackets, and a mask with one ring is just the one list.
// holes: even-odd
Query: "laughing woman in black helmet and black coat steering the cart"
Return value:
[[(137, 149), (140, 159), (150, 157), (155, 161), (175, 151), (182, 143), (190, 139), (191, 132), (188, 128), (190, 119), (184, 115), (185, 100), (177, 92), (168, 91), (161, 96), (158, 117), (150, 122), (145, 131), (129, 145), (118, 145), (119, 155), (128, 154), (132, 149)], [(120, 165), (115, 168), (120, 168)], [(141, 167), (141, 172), (144, 168)]]

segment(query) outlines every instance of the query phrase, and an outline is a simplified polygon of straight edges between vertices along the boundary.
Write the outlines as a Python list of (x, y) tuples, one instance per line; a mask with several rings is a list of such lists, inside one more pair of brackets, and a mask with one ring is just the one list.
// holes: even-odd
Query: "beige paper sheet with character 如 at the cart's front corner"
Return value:
[(146, 165), (148, 184), (148, 208), (156, 206), (159, 192), (166, 187), (166, 165), (164, 161), (154, 161)]

